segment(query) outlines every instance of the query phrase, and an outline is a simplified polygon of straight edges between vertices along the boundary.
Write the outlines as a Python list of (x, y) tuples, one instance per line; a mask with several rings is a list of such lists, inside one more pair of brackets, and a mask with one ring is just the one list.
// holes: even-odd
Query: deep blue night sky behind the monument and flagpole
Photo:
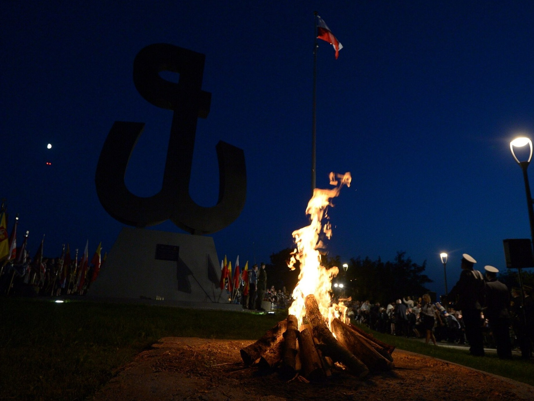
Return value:
[[(451, 288), (462, 253), (475, 268), (505, 269), (502, 240), (530, 236), (509, 141), (534, 134), (534, 3), (82, 3), (4, 2), (0, 12), (0, 197), (11, 218), (20, 213), (19, 243), (30, 231), (32, 255), (43, 234), (45, 255), (63, 243), (83, 252), (87, 240), (90, 253), (100, 241), (111, 249), (122, 225), (98, 201), (95, 170), (114, 121), (146, 123), (126, 183), (139, 196), (159, 191), (172, 112), (132, 81), (152, 43), (206, 55), (211, 111), (198, 123), (193, 199), (217, 201), (219, 140), (245, 152), (245, 209), (213, 235), (219, 259), (269, 262), (290, 248), (308, 223), (315, 10), (343, 44), (335, 60), (319, 43), (317, 186), (331, 171), (352, 174), (329, 210), (330, 255), (406, 251), (443, 292), (439, 252), (450, 253)], [(169, 221), (151, 228), (180, 232)]]

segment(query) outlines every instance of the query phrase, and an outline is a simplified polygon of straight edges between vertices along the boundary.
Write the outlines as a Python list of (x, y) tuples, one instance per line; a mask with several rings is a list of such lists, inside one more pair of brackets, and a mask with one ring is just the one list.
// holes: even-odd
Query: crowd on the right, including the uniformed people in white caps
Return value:
[(438, 342), (468, 344), (474, 356), (484, 348), (497, 348), (499, 358), (510, 359), (519, 348), (523, 358), (532, 357), (534, 303), (531, 294), (519, 288), (509, 290), (497, 280), (497, 268), (485, 266), (484, 274), (474, 269), (476, 260), (464, 254), (460, 280), (449, 292), (447, 302), (433, 302), (429, 294), (403, 297), (388, 304), (369, 300), (344, 300), (351, 320), (391, 335), (424, 338)]

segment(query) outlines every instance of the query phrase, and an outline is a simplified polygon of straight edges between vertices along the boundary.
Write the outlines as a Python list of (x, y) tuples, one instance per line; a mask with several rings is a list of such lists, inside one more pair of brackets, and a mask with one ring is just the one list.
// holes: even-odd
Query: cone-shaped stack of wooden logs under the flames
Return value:
[(288, 315), (260, 340), (240, 350), (245, 365), (277, 369), (283, 379), (301, 375), (309, 381), (324, 381), (340, 364), (347, 372), (365, 377), (392, 367), (395, 347), (340, 319), (328, 329), (313, 295), (305, 299), (308, 324), (297, 328), (297, 319)]

